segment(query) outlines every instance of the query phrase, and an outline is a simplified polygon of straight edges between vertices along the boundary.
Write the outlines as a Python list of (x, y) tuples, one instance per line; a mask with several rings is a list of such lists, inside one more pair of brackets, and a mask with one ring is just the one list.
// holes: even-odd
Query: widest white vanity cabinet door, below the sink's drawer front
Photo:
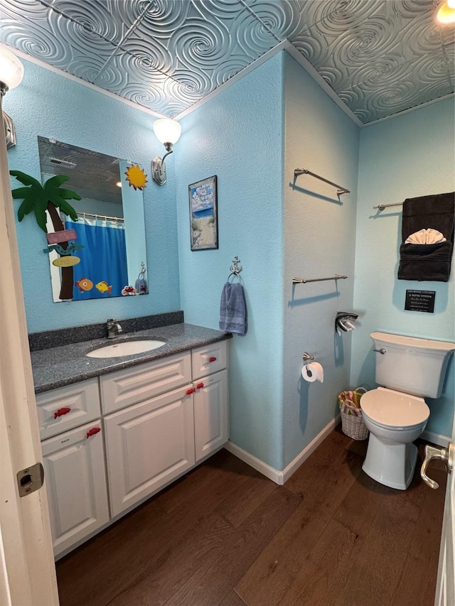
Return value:
[(194, 465), (193, 389), (188, 388), (191, 386), (105, 417), (113, 516)]

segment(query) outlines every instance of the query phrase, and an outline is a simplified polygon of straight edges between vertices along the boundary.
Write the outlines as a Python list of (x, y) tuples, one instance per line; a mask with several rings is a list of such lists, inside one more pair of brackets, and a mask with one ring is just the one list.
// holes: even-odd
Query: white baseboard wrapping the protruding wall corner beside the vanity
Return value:
[(299, 453), (299, 455), (297, 455), (296, 458), (291, 461), (287, 467), (285, 467), (283, 471), (276, 470), (271, 465), (267, 465), (267, 463), (264, 463), (264, 461), (248, 453), (247, 450), (243, 450), (243, 448), (240, 448), (240, 446), (237, 446), (231, 441), (225, 444), (224, 448), (232, 453), (232, 455), (235, 455), (237, 458), (247, 463), (247, 465), (250, 465), (250, 467), (259, 473), (262, 473), (262, 475), (265, 477), (268, 477), (269, 480), (272, 480), (272, 482), (275, 482), (275, 484), (281, 486), (284, 484), (284, 482), (289, 480), (291, 475), (300, 467), (304, 460), (309, 458), (309, 455), (311, 455), (311, 453), (316, 450), (327, 435), (333, 431), (340, 420), (341, 419), (339, 416), (333, 418), (332, 421), (328, 423), (328, 425), (326, 425), (326, 427), (324, 427), (323, 430), (318, 433), (318, 435), (316, 435), (316, 438), (311, 440), (309, 445), (307, 445), (304, 450), (302, 450), (301, 453)]

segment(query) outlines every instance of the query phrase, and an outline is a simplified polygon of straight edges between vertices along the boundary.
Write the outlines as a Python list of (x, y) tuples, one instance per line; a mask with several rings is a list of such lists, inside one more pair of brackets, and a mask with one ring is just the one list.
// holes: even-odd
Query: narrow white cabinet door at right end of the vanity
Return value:
[(228, 373), (195, 381), (194, 435), (196, 461), (218, 450), (229, 438)]

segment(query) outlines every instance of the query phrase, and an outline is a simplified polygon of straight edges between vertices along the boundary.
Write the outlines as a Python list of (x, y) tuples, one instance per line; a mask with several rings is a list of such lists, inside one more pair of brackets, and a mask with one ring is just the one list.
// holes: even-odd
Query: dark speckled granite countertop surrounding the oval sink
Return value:
[[(149, 328), (139, 332), (129, 332), (109, 340), (107, 338), (94, 339), (33, 351), (31, 352), (31, 364), (35, 393), (41, 394), (43, 391), (85, 381), (85, 379), (98, 377), (101, 374), (129, 368), (144, 362), (151, 362), (155, 359), (185, 352), (194, 347), (210, 345), (210, 343), (231, 337), (230, 333), (221, 332), (220, 330), (179, 323), (159, 328)], [(143, 339), (163, 340), (166, 341), (166, 344), (156, 350), (117, 358), (93, 358), (85, 355), (87, 352), (103, 345)]]

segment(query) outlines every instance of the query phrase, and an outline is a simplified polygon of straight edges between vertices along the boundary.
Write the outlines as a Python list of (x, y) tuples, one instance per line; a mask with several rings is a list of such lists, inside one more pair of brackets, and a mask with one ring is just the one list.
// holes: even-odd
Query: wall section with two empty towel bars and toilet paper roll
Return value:
[[(337, 310), (353, 310), (359, 129), (290, 55), (284, 53), (284, 467), (339, 413), (349, 387), (351, 333), (338, 337)], [(350, 190), (311, 175), (307, 168)], [(346, 280), (292, 285), (294, 276)], [(302, 354), (323, 365), (323, 383), (301, 379)]]

